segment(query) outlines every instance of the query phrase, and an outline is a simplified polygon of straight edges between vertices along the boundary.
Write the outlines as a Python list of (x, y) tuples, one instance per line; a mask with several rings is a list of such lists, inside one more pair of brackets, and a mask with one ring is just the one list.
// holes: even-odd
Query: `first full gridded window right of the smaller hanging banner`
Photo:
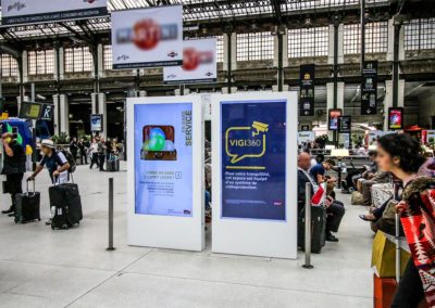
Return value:
[(274, 43), (270, 31), (237, 34), (237, 61), (273, 59)]

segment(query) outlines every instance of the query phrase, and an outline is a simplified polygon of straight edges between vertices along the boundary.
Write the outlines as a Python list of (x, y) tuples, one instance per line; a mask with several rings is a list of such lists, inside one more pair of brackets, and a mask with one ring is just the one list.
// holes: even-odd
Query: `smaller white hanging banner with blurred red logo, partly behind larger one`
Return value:
[(216, 39), (184, 41), (183, 65), (163, 67), (163, 84), (216, 82)]

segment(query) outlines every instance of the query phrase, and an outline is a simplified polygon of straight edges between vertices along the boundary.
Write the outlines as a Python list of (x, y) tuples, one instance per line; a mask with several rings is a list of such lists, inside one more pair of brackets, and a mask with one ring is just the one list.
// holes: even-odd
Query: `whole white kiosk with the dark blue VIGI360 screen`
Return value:
[(296, 92), (212, 95), (213, 253), (297, 257)]

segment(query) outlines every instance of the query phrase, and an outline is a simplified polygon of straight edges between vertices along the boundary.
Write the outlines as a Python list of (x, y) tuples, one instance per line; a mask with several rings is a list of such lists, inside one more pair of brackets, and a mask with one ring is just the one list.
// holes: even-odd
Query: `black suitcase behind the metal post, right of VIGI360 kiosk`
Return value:
[[(300, 211), (298, 245), (304, 251), (306, 209)], [(326, 243), (326, 209), (323, 206), (311, 206), (311, 253), (320, 254)]]

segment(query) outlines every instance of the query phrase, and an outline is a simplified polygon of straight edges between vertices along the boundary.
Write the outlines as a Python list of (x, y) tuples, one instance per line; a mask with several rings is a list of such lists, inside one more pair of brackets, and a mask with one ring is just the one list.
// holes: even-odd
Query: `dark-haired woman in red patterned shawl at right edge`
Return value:
[(419, 307), (424, 297), (435, 307), (435, 178), (421, 167), (434, 168), (425, 166), (419, 142), (406, 133), (380, 138), (376, 162), (403, 183), (396, 210), (411, 251), (390, 307)]

